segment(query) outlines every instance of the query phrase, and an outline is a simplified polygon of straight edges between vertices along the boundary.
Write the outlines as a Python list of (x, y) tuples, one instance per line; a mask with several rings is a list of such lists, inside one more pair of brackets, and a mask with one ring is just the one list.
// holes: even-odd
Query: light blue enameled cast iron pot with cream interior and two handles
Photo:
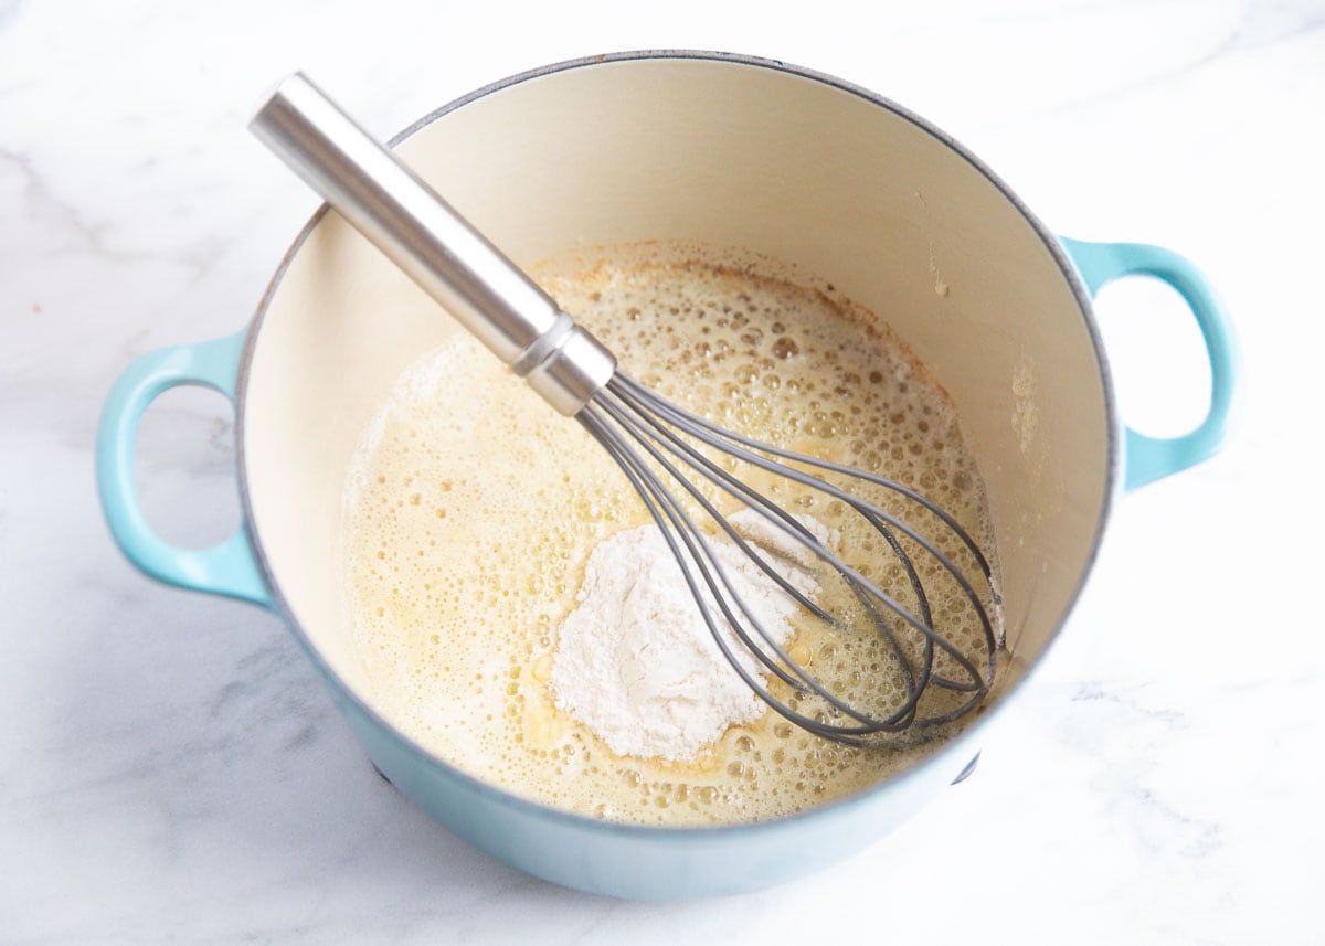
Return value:
[[(321, 211), (248, 329), (135, 360), (106, 403), (97, 458), (125, 554), (163, 582), (281, 615), (400, 791), (476, 847), (558, 884), (639, 898), (731, 893), (876, 840), (971, 762), (1059, 633), (1113, 499), (1204, 458), (1223, 436), (1236, 351), (1190, 264), (1154, 246), (1055, 237), (945, 134), (835, 78), (713, 53), (594, 57), (481, 89), (398, 144), (517, 264), (684, 238), (763, 253), (835, 284), (933, 368), (988, 490), (1012, 673), (978, 722), (922, 764), (794, 817), (705, 829), (604, 824), (429, 755), (379, 713), (344, 631), (337, 531), (347, 464), (399, 372), (460, 331), (452, 319)], [(1090, 297), (1133, 273), (1174, 286), (1204, 337), (1210, 412), (1182, 437), (1140, 436), (1114, 411)], [(132, 485), (139, 417), (178, 384), (225, 394), (237, 417), (244, 523), (203, 551), (154, 535)]]

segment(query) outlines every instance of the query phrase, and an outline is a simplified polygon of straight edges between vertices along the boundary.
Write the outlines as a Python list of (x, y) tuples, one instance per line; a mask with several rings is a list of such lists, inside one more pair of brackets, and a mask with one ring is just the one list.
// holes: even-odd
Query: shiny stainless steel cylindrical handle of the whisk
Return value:
[(249, 127), (563, 415), (611, 380), (612, 352), (302, 73)]

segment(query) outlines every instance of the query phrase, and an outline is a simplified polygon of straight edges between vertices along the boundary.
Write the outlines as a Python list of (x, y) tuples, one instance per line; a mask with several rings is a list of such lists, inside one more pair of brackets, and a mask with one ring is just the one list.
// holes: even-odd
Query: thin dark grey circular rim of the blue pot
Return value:
[[(1008, 684), (1008, 688), (1003, 692), (1002, 697), (994, 705), (982, 705), (977, 709), (978, 718), (973, 719), (961, 733), (950, 738), (946, 743), (938, 747), (933, 754), (925, 757), (914, 766), (904, 768), (902, 771), (894, 772), (878, 782), (871, 784), (868, 788), (857, 791), (855, 794), (825, 802), (823, 804), (814, 806), (806, 811), (795, 812), (791, 815), (783, 815), (779, 817), (772, 817), (761, 821), (745, 821), (745, 823), (731, 823), (731, 824), (716, 824), (716, 825), (647, 825), (647, 824), (633, 824), (633, 823), (620, 823), (620, 821), (606, 821), (586, 815), (579, 815), (562, 808), (554, 808), (529, 798), (523, 798), (505, 788), (500, 788), (494, 784), (484, 782), (474, 775), (470, 775), (458, 766), (447, 762), (441, 757), (431, 753), (428, 749), (416, 742), (412, 737), (399, 730), (390, 719), (387, 719), (375, 706), (366, 702), (359, 697), (355, 690), (348, 686), (344, 680), (335, 672), (335, 669), (323, 658), (321, 651), (313, 644), (309, 635), (305, 632), (298, 619), (294, 616), (293, 609), (282, 594), (280, 584), (276, 582), (270, 562), (268, 560), (266, 549), (262, 545), (261, 534), (256, 527), (253, 518), (253, 503), (249, 494), (248, 484), (248, 460), (246, 460), (246, 405), (248, 405), (248, 382), (249, 371), (252, 368), (253, 352), (257, 347), (257, 339), (261, 334), (262, 322), (266, 318), (268, 310), (270, 307), (272, 299), (276, 297), (276, 291), (285, 277), (286, 270), (293, 262), (294, 257), (303, 248), (309, 236), (321, 223), (323, 215), (330, 209), (327, 204), (322, 204), (317, 211), (309, 217), (303, 229), (298, 233), (290, 248), (286, 250), (285, 256), (281, 258), (280, 265), (272, 276), (266, 290), (262, 293), (262, 298), (258, 301), (257, 310), (253, 319), (249, 323), (248, 334), (244, 339), (244, 350), (240, 358), (238, 378), (236, 383), (236, 400), (235, 400), (235, 429), (236, 429), (236, 468), (238, 478), (238, 492), (240, 492), (240, 505), (244, 513), (244, 522), (248, 526), (249, 542), (253, 547), (253, 555), (257, 560), (258, 568), (262, 575), (262, 580), (270, 590), (272, 607), (285, 621), (286, 627), (294, 635), (294, 639), (299, 643), (309, 661), (322, 676), (323, 681), (331, 688), (334, 694), (339, 694), (348, 700), (355, 710), (362, 713), (370, 722), (378, 726), (382, 731), (394, 738), (400, 746), (408, 749), (412, 754), (417, 755), (421, 762), (424, 762), (429, 768), (436, 770), (440, 774), (447, 775), (450, 779), (456, 779), (465, 784), (468, 788), (474, 791), (477, 795), (497, 802), (502, 806), (515, 810), (517, 812), (551, 819), (553, 821), (562, 823), (567, 827), (576, 829), (586, 829), (592, 832), (612, 833), (612, 835), (625, 835), (639, 839), (680, 839), (685, 836), (702, 835), (704, 837), (726, 836), (731, 833), (762, 833), (767, 835), (771, 832), (791, 829), (803, 827), (812, 821), (827, 820), (831, 817), (837, 817), (847, 815), (863, 807), (868, 807), (880, 803), (889, 786), (896, 786), (898, 783), (920, 778), (920, 774), (935, 768), (935, 763), (939, 759), (946, 759), (949, 757), (962, 758), (965, 763), (965, 753), (971, 753), (978, 755), (978, 742), (975, 739), (987, 726), (990, 719), (1002, 714), (1003, 708), (1007, 705), (1010, 698), (1019, 692), (1027, 677), (1030, 677), (1035, 668), (1044, 660), (1045, 655), (1052, 649), (1053, 644), (1057, 641), (1059, 635), (1063, 631), (1063, 625), (1067, 623), (1072, 611), (1076, 608), (1077, 602), (1081, 596), (1081, 590), (1085, 586), (1092, 570), (1094, 568), (1096, 559), (1100, 552), (1100, 546), (1104, 538), (1105, 525), (1112, 513), (1113, 502), (1118, 490), (1118, 469), (1120, 469), (1120, 425), (1117, 419), (1117, 401), (1113, 392), (1113, 383), (1109, 372), (1109, 363), (1104, 350), (1102, 337), (1100, 334), (1098, 326), (1093, 315), (1093, 305), (1090, 295), (1086, 291), (1076, 268), (1068, 256), (1067, 250), (1057, 241), (1057, 237), (1049, 231), (1035, 213), (1026, 205), (1026, 203), (1012, 192), (1012, 189), (979, 158), (977, 158), (970, 150), (962, 146), (955, 138), (935, 127), (928, 119), (921, 118), (914, 111), (906, 109), (905, 106), (893, 102), (892, 99), (880, 95), (869, 89), (859, 86), (852, 82), (847, 82), (835, 76), (822, 73), (804, 66), (792, 65), (783, 62), (780, 60), (772, 60), (759, 56), (749, 56), (742, 53), (729, 53), (729, 52), (713, 52), (713, 50), (697, 50), (697, 49), (639, 49), (639, 50), (625, 50), (617, 53), (600, 53), (595, 56), (584, 56), (572, 60), (563, 60), (560, 62), (549, 64), (545, 66), (538, 66), (529, 69), (526, 72), (509, 76), (496, 82), (490, 82), (480, 89), (466, 93), (456, 99), (452, 99), (447, 105), (435, 109), (423, 118), (411, 123), (399, 134), (394, 135), (388, 140), (390, 147), (396, 147), (405, 139), (411, 138), (420, 130), (432, 125), (439, 118), (456, 111), (457, 109), (476, 102), (481, 98), (490, 95), (492, 93), (501, 91), (504, 89), (527, 82), (530, 79), (537, 79), (545, 76), (551, 76), (560, 72), (568, 72), (571, 69), (582, 69), (587, 66), (603, 65), (610, 62), (629, 62), (629, 61), (643, 61), (643, 60), (698, 60), (698, 61), (714, 61), (714, 62), (729, 62), (734, 65), (742, 65), (757, 69), (768, 69), (772, 72), (780, 72), (790, 76), (796, 76), (799, 78), (811, 79), (822, 85), (837, 89), (840, 91), (856, 95), (865, 102), (890, 111), (894, 115), (904, 118), (910, 122), (921, 131), (935, 138), (942, 144), (947, 146), (951, 151), (959, 155), (962, 159), (971, 166), (974, 171), (980, 174), (995, 189), (998, 189), (1022, 215), (1022, 217), (1031, 225), (1031, 228), (1037, 233), (1043, 241), (1045, 249), (1053, 257), (1055, 262), (1063, 277), (1067, 280), (1068, 286), (1072, 290), (1073, 297), (1077, 301), (1077, 307), (1081, 313), (1083, 321), (1085, 323), (1086, 333), (1090, 339), (1090, 344), (1094, 348), (1096, 359), (1100, 368), (1100, 379), (1104, 394), (1104, 407), (1105, 407), (1105, 431), (1108, 433), (1106, 445), (1106, 470), (1105, 470), (1105, 484), (1102, 492), (1102, 502), (1100, 507), (1100, 514), (1094, 526), (1094, 538), (1090, 545), (1089, 552), (1081, 568), (1081, 574), (1077, 579), (1076, 587), (1063, 608), (1063, 613), (1059, 616), (1057, 623), (1052, 628), (1048, 643), (1044, 649), (1035, 656), (1034, 660), (1026, 664), (1026, 668), (1018, 676), (1016, 680)], [(966, 767), (974, 764), (973, 758)], [(962, 763), (954, 764), (954, 774)], [(962, 778), (966, 771), (962, 771)], [(957, 780), (961, 780), (958, 778)], [(399, 791), (399, 788), (398, 788)]]

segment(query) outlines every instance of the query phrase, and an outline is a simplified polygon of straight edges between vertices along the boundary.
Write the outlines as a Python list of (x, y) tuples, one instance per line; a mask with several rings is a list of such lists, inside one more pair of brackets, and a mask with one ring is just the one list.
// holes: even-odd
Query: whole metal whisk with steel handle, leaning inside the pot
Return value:
[[(625, 375), (602, 343), (305, 76), (285, 79), (250, 127), (515, 375), (602, 444), (661, 529), (723, 657), (774, 710), (816, 735), (881, 746), (889, 734), (950, 722), (979, 706), (996, 666), (991, 611), (998, 612), (998, 592), (988, 560), (953, 515), (885, 477), (723, 429)], [(739, 462), (731, 464), (731, 457)], [(872, 580), (876, 568), (843, 560), (786, 501), (774, 501), (729, 472), (739, 464), (792, 484), (783, 494), (827, 496), (861, 517), (898, 566), (893, 571), (901, 578), (900, 588), (892, 591), (908, 595), (908, 602)], [(950, 547), (980, 571), (986, 598), (938, 542), (835, 481), (910, 503), (930, 527), (946, 530)], [(819, 563), (818, 578), (836, 584), (855, 603), (851, 615), (829, 612), (783, 578), (719, 511), (718, 496), (755, 510), (807, 551), (812, 556), (807, 560)], [(708, 530), (704, 521), (712, 523)], [(755, 620), (714, 554), (716, 542), (729, 542), (749, 555), (804, 608), (808, 620), (825, 623), (843, 640), (873, 647), (872, 666), (877, 670), (881, 660), (886, 680), (864, 696), (851, 688), (829, 689), (806, 666), (808, 660), (794, 660)], [(977, 644), (963, 648), (935, 627), (933, 575), (946, 575), (943, 580), (959, 590), (970, 608), (967, 617), (973, 613), (978, 624)], [(741, 652), (758, 662), (742, 660)], [(882, 690), (890, 694), (886, 701), (877, 698)]]

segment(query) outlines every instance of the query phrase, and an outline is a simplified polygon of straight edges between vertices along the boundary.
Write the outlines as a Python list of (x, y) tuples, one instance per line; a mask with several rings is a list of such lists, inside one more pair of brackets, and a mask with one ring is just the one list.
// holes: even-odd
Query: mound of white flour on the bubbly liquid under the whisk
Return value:
[[(816, 519), (798, 519), (820, 542), (837, 542)], [(818, 595), (819, 584), (806, 571), (814, 556), (799, 542), (749, 509), (729, 522), (796, 591), (811, 600)], [(710, 542), (750, 613), (786, 644), (800, 605), (733, 543)], [(599, 543), (576, 600), (560, 628), (551, 685), (556, 705), (613, 753), (690, 759), (729, 726), (753, 722), (767, 709), (713, 640), (657, 526), (628, 529)], [(714, 615), (742, 665), (766, 676), (721, 612), (714, 608)]]

